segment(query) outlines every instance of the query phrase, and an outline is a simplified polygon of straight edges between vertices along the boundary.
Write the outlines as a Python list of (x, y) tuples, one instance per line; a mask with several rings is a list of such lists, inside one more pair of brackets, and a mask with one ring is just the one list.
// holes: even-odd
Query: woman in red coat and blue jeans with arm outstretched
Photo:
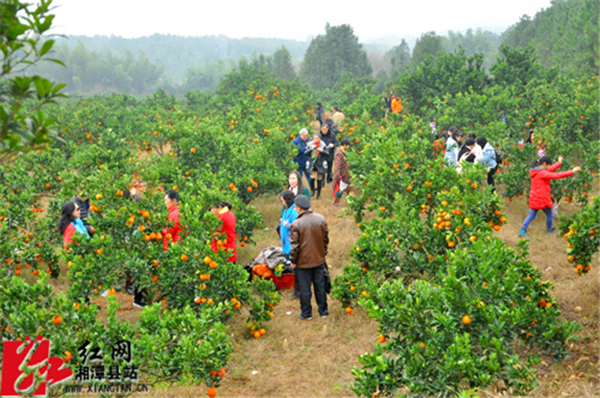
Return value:
[(527, 227), (529, 227), (529, 224), (537, 215), (538, 210), (543, 210), (544, 213), (546, 213), (546, 230), (548, 233), (554, 233), (550, 181), (572, 176), (573, 173), (577, 173), (581, 170), (581, 168), (577, 166), (573, 170), (553, 173), (554, 170), (560, 167), (561, 163), (562, 156), (558, 157), (558, 163), (555, 164), (552, 164), (552, 159), (549, 156), (543, 156), (534, 160), (531, 165), (531, 169), (529, 170), (529, 177), (531, 177), (529, 215), (525, 219), (525, 222), (523, 222), (523, 226), (519, 231), (520, 237), (527, 237)]

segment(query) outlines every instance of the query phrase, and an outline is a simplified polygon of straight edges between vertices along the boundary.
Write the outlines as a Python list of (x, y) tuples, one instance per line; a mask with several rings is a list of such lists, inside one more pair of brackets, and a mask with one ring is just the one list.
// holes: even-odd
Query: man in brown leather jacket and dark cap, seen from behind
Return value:
[(296, 271), (296, 282), (300, 287), (300, 310), (298, 318), (312, 320), (310, 304), (314, 285), (315, 299), (322, 318), (329, 315), (327, 293), (325, 292), (325, 256), (329, 244), (327, 221), (320, 214), (313, 213), (310, 202), (305, 195), (298, 195), (294, 200), (298, 210), (298, 218), (291, 228), (290, 261)]

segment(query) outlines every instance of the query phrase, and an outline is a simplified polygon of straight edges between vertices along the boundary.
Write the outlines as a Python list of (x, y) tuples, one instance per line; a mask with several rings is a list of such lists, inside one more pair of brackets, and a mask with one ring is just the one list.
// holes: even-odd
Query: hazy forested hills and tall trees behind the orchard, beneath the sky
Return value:
[(596, 0), (556, 0), (533, 18), (525, 15), (502, 34), (481, 29), (428, 32), (414, 43), (402, 40), (389, 48), (363, 45), (349, 25), (325, 27), (310, 42), (225, 36), (153, 35), (59, 37), (54, 57), (31, 74), (65, 82), (69, 93), (120, 92), (146, 95), (158, 89), (176, 96), (188, 91), (214, 91), (228, 72), (247, 64), (264, 68), (278, 79), (299, 78), (312, 89), (333, 88), (345, 73), (373, 80), (374, 90), (397, 86), (423, 61), (454, 54), (489, 72), (502, 46), (528, 48), (545, 67), (566, 74), (598, 70), (599, 4)]

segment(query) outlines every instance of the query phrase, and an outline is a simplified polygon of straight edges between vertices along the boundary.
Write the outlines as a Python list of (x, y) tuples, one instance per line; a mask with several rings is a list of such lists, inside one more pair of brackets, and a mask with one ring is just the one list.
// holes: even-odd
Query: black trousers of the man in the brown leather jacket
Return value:
[(300, 310), (305, 318), (312, 317), (312, 291), (315, 289), (315, 299), (319, 308), (319, 315), (329, 315), (327, 307), (327, 293), (325, 293), (325, 264), (313, 268), (296, 268), (296, 284), (300, 287)]

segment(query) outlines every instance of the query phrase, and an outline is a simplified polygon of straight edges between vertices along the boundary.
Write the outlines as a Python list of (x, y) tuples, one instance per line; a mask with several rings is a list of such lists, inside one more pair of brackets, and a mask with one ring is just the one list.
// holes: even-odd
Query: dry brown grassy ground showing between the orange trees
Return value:
[[(324, 189), (323, 198), (313, 199), (313, 210), (323, 214), (329, 224), (332, 278), (349, 262), (350, 249), (358, 236), (352, 216), (341, 217), (342, 208), (331, 205), (331, 187)], [(278, 244), (275, 226), (281, 206), (276, 197), (259, 198), (254, 203), (265, 221), (265, 230), (255, 236), (256, 245), (238, 248), (238, 263), (246, 264), (264, 247)], [(506, 202), (508, 224), (497, 235), (508, 244), (516, 245), (517, 233), (528, 212), (525, 199)], [(560, 207), (561, 214), (577, 211), (576, 206)], [(566, 260), (566, 242), (559, 236), (545, 233), (544, 215), (540, 214), (529, 228), (530, 256), (540, 269), (543, 279), (555, 285), (553, 295), (558, 299), (564, 319), (583, 326), (578, 341), (570, 345), (572, 356), (562, 363), (543, 358), (538, 366), (540, 387), (532, 392), (535, 397), (591, 397), (600, 395), (599, 368), (599, 267), (592, 265), (586, 276), (578, 276)], [(556, 220), (558, 222), (558, 220)], [(63, 275), (66, 275), (66, 270)], [(56, 283), (62, 290), (68, 283), (61, 277)], [(287, 297), (291, 291), (284, 292)], [(119, 317), (137, 322), (140, 310), (131, 305), (132, 297), (117, 293), (122, 306)], [(95, 299), (105, 307), (103, 298)], [(296, 319), (297, 300), (282, 299), (275, 308), (275, 317), (267, 325), (267, 334), (261, 339), (249, 336), (245, 328), (247, 313), (243, 311), (230, 323), (234, 352), (227, 365), (227, 376), (219, 388), (220, 397), (345, 397), (354, 396), (351, 390), (351, 369), (358, 366), (360, 354), (372, 351), (377, 338), (377, 324), (356, 307), (348, 316), (339, 302), (329, 299), (330, 316), (315, 317), (312, 322)], [(575, 310), (581, 307), (580, 311)], [(105, 308), (101, 310), (104, 318)], [(317, 314), (313, 299), (313, 313)], [(175, 385), (154, 387), (144, 397), (197, 397), (206, 394), (206, 387)], [(497, 396), (492, 390), (483, 396)]]

